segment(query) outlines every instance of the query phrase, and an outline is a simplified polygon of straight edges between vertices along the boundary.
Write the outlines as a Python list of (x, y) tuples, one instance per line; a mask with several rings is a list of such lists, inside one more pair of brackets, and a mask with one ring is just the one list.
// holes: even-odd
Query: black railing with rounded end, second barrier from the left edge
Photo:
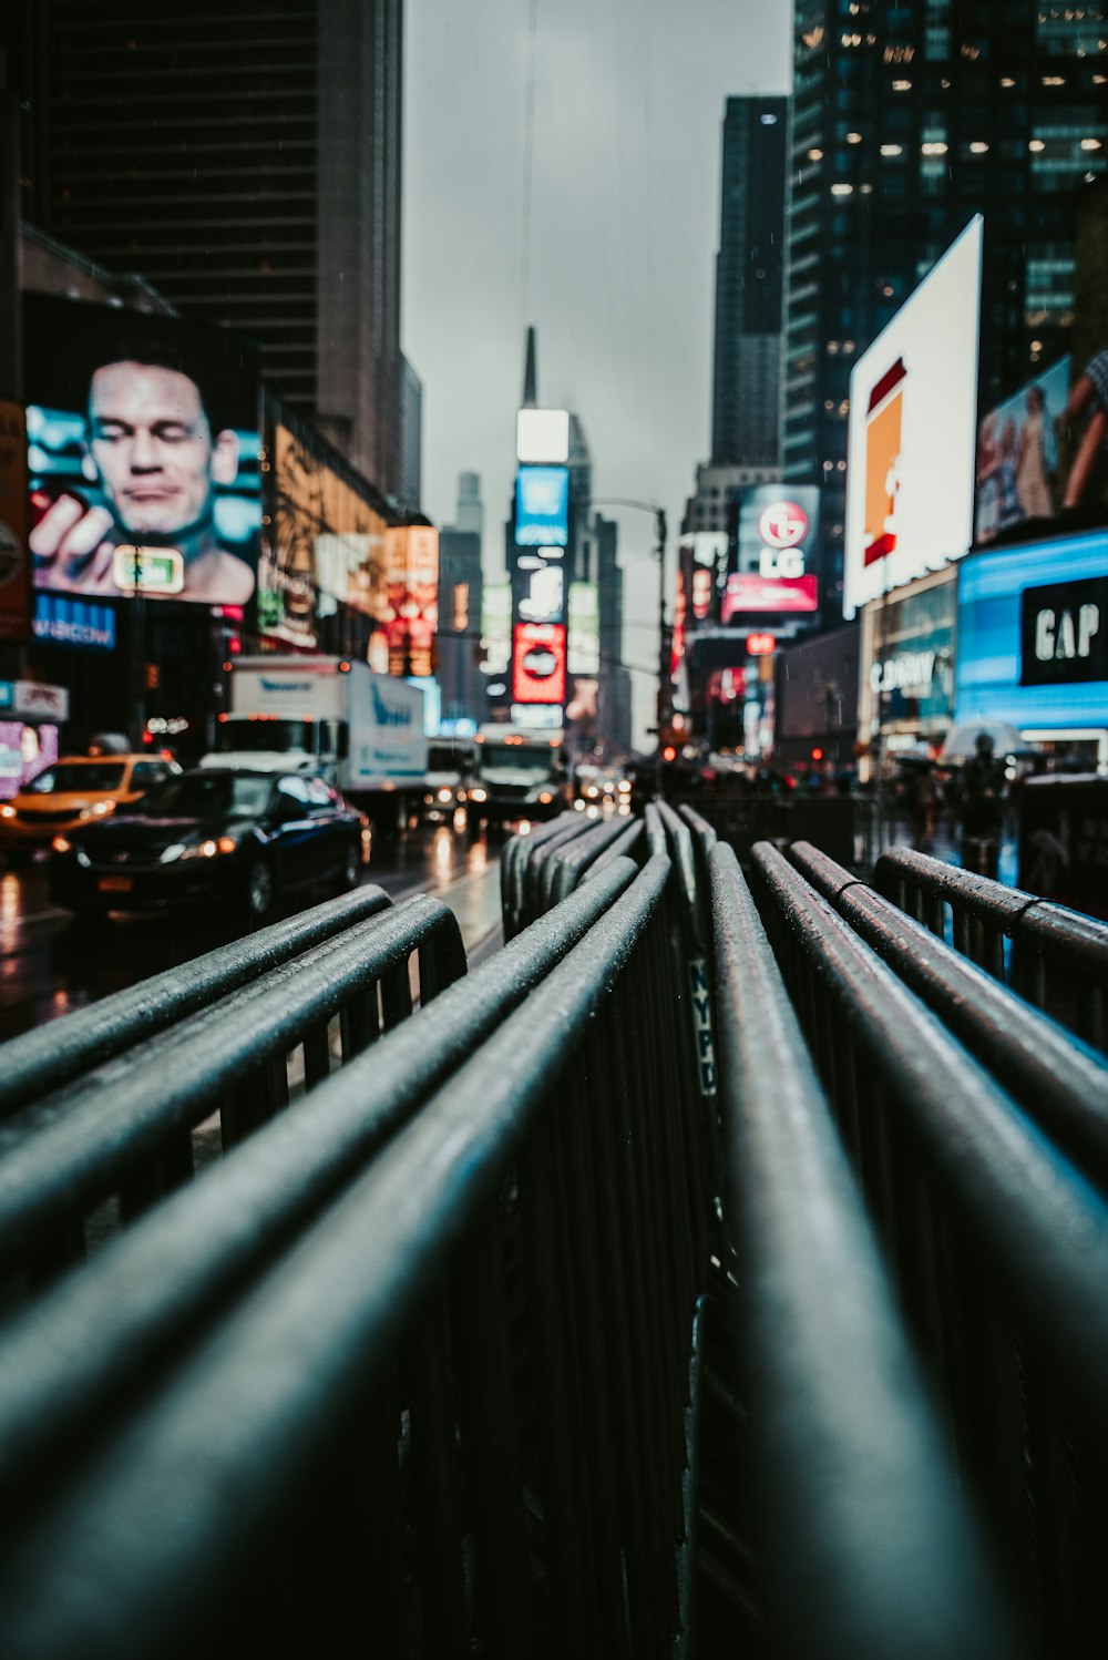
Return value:
[[(103, 1009), (103, 1038), (78, 1016), (76, 1034), (63, 1024), (53, 1049), (48, 1033), (5, 1046), (5, 1062), (7, 1047), (17, 1051), (18, 1092), (30, 1099), (0, 1124), (8, 1301), (410, 1016), (413, 958), (425, 1003), (464, 973), (458, 921), (428, 895), (398, 906), (377, 893), (362, 905), (337, 900), (274, 933), (279, 950), (250, 936), (241, 958), (224, 946), (174, 971), (176, 983), (159, 976), (149, 998), (134, 988), (88, 1009)], [(78, 1056), (104, 1052), (109, 1059), (73, 1076)]]

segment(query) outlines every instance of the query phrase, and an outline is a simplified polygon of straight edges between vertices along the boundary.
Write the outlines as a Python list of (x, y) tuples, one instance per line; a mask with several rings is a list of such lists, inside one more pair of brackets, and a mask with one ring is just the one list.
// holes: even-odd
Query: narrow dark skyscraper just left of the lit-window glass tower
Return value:
[(776, 466), (788, 98), (728, 98), (715, 259), (712, 461)]

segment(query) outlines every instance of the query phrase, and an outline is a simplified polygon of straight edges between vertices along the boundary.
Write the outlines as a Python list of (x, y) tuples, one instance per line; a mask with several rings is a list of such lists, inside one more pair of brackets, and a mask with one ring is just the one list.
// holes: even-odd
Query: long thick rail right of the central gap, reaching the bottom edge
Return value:
[(712, 848), (708, 865), (773, 1652), (1010, 1660), (987, 1550), (770, 941), (733, 850)]

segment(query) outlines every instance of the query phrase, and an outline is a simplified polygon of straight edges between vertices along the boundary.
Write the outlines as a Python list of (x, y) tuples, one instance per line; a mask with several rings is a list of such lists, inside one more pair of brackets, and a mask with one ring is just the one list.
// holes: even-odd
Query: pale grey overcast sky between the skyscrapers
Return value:
[[(486, 571), (503, 569), (532, 322), (539, 402), (581, 417), (595, 496), (667, 508), (672, 573), (710, 435), (723, 101), (790, 88), (790, 27), (788, 0), (406, 0), (403, 345), (423, 380), (423, 506), (453, 523), (458, 473), (481, 475)], [(612, 513), (624, 657), (654, 674), (654, 526)], [(657, 681), (632, 681), (645, 742)]]

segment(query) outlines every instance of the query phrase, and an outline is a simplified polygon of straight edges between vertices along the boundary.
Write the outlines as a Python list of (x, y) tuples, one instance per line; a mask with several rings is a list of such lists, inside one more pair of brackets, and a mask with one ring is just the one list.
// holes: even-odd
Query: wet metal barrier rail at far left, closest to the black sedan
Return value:
[(279, 968), (299, 951), (330, 940), (367, 916), (386, 910), (383, 888), (363, 886), (285, 921), (219, 946), (191, 963), (75, 1009), (65, 1023), (41, 1026), (3, 1046), (0, 1117), (58, 1089), (134, 1042), (153, 1038), (216, 998)]

